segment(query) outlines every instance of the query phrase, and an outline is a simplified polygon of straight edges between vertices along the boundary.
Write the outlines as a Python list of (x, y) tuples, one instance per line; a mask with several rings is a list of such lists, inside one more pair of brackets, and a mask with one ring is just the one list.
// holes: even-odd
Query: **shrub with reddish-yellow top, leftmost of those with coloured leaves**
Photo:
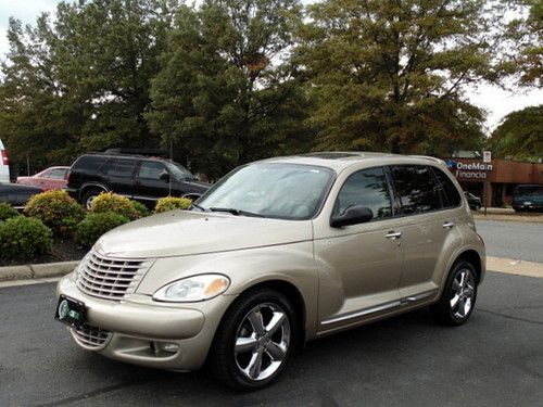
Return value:
[(66, 191), (47, 191), (31, 196), (25, 215), (40, 219), (59, 236), (70, 237), (85, 217), (85, 209)]

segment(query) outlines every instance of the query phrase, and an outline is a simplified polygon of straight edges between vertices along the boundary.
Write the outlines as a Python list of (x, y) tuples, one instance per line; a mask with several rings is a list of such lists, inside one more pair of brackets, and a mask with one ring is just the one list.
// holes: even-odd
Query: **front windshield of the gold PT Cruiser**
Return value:
[(325, 167), (258, 163), (225, 176), (197, 201), (203, 209), (236, 209), (269, 218), (311, 219), (334, 178)]

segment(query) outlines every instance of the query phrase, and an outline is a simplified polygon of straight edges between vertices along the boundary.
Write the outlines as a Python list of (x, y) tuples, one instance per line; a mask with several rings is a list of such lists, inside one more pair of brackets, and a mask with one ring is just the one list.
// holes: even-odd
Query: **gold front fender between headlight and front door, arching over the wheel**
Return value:
[(137, 293), (153, 295), (156, 290), (173, 281), (210, 272), (223, 274), (230, 279), (230, 287), (224, 295), (239, 295), (256, 284), (269, 281), (292, 284), (300, 292), (305, 305), (306, 338), (314, 336), (318, 277), (313, 257), (313, 242), (159, 258), (141, 281)]

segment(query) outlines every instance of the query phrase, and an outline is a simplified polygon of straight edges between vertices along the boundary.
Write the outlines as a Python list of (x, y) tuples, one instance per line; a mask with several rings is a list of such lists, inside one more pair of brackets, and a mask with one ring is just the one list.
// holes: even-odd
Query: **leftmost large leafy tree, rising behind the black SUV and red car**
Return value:
[(159, 147), (143, 114), (176, 0), (62, 2), (52, 23), (10, 20), (0, 128), (15, 161), (71, 163), (79, 152)]

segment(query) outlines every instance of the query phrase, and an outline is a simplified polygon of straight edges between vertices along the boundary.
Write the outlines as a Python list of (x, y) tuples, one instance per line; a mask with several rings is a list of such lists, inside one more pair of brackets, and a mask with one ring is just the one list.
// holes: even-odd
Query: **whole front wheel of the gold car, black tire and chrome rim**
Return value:
[(209, 368), (235, 390), (262, 389), (285, 370), (298, 344), (296, 332), (296, 314), (283, 294), (269, 289), (247, 292), (223, 318)]

